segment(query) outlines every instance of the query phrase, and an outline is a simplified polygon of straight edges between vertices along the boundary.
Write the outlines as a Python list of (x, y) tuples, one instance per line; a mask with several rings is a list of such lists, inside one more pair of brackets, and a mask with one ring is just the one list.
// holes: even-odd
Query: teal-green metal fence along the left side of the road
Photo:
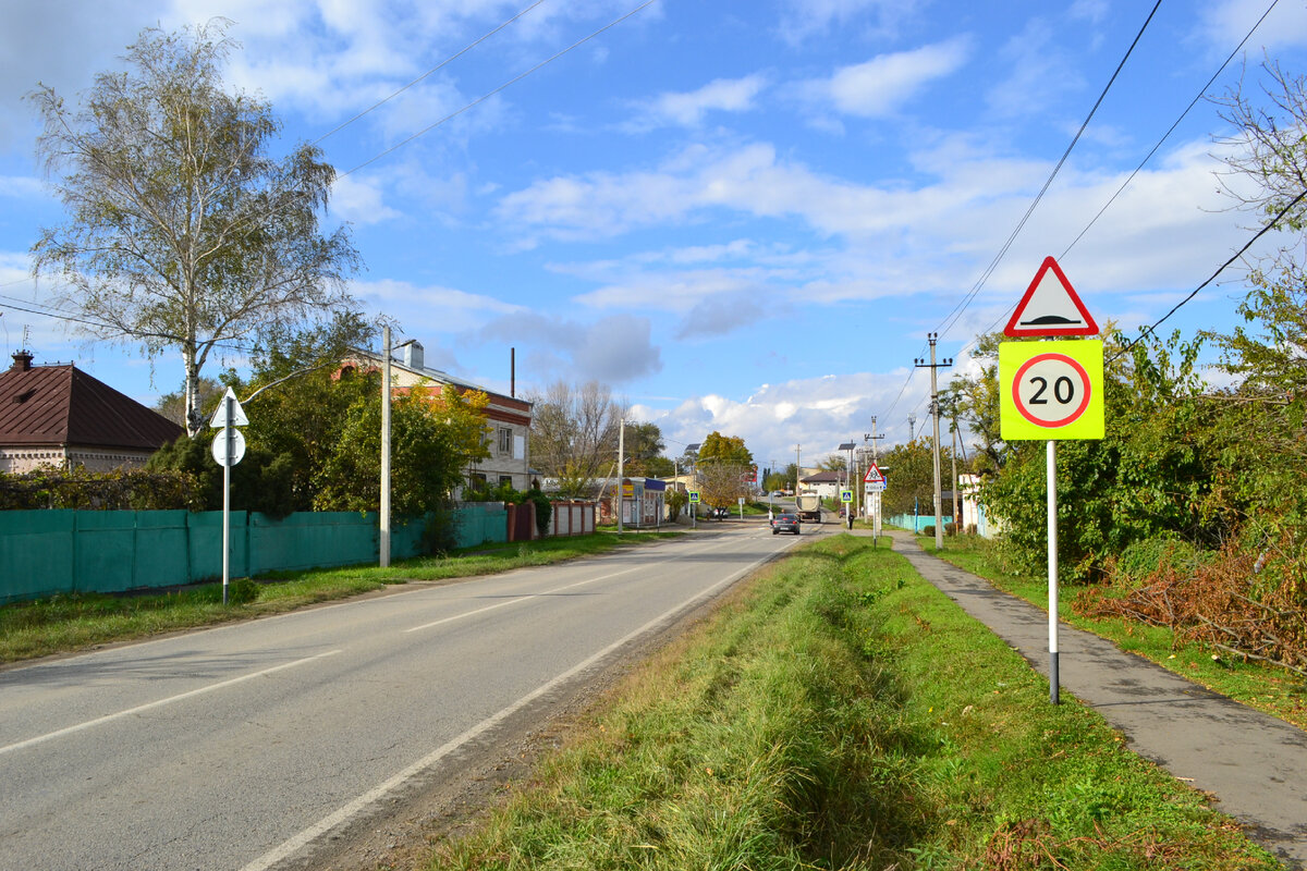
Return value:
[[(454, 512), (459, 547), (507, 541), (501, 503)], [(395, 524), (391, 555), (421, 552), (425, 520)], [(231, 512), (231, 576), (374, 563), (374, 513), (314, 512), (281, 520)], [(0, 512), (0, 603), (60, 593), (180, 586), (222, 576), (222, 512)]]

